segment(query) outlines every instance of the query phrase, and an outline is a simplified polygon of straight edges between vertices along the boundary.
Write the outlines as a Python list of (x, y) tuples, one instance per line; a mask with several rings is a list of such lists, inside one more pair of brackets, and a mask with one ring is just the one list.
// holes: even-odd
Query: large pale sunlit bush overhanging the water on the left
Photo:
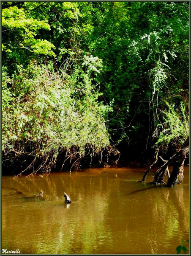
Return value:
[[(87, 144), (94, 149), (109, 145), (103, 118), (108, 107), (98, 103), (99, 93), (86, 73), (76, 68), (63, 80), (51, 64), (31, 63), (19, 70), (13, 79), (4, 74), (3, 148), (14, 147), (16, 140), (43, 140), (41, 153), (59, 146), (76, 146), (83, 153)], [(7, 86), (10, 82), (12, 91)]]

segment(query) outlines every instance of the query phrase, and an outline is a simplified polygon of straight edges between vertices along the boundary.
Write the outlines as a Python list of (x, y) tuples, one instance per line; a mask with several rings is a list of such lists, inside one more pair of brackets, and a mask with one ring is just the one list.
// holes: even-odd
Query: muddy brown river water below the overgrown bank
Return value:
[[(2, 248), (22, 254), (176, 254), (182, 240), (188, 246), (189, 168), (172, 188), (148, 184), (154, 173), (137, 182), (143, 172), (97, 168), (2, 177)], [(35, 198), (41, 190), (43, 198)]]

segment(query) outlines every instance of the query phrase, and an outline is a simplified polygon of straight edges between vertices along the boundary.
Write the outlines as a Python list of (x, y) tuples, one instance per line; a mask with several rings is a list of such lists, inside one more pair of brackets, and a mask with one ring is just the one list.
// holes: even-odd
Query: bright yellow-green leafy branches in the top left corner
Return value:
[[(50, 30), (46, 20), (30, 17), (25, 9), (13, 6), (2, 10), (3, 55), (6, 62), (22, 64), (39, 54), (55, 56), (55, 46), (46, 39), (39, 39), (41, 30)], [(26, 59), (25, 59), (26, 58)], [(10, 70), (9, 70), (10, 72)]]

